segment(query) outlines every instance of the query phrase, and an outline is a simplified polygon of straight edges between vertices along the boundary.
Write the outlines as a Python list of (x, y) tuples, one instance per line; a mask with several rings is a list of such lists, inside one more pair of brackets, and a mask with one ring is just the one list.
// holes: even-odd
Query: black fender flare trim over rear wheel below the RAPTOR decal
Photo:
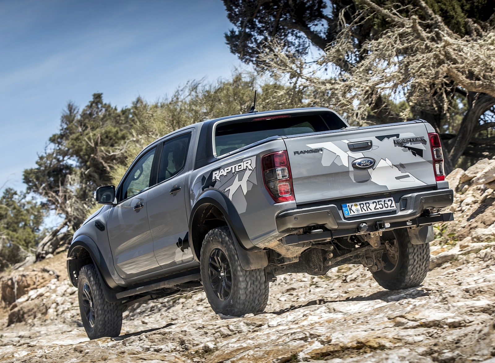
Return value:
[[(216, 189), (206, 190), (198, 199), (191, 211), (189, 222), (189, 236), (195, 259), (199, 261), (199, 253), (196, 246), (200, 246), (202, 241), (195, 240), (197, 233), (194, 233), (194, 226), (200, 214), (209, 205), (214, 205), (223, 214), (225, 222), (230, 229), (237, 255), (244, 270), (261, 269), (268, 265), (266, 252), (252, 244), (247, 235), (239, 213), (227, 196)], [(197, 239), (197, 238), (196, 238)], [(200, 248), (200, 247), (199, 247)], [(199, 252), (199, 251), (198, 251)]]

